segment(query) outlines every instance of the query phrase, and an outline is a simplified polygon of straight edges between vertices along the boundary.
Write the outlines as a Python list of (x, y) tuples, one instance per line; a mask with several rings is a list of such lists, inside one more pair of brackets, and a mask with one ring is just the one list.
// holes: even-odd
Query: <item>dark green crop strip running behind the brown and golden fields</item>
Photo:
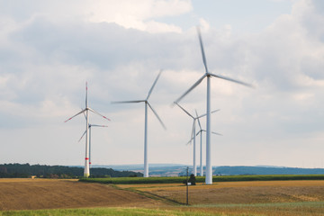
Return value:
[[(81, 182), (102, 184), (172, 184), (183, 183), (186, 177), (115, 177), (82, 178)], [(213, 182), (279, 181), (279, 180), (324, 180), (324, 175), (221, 175), (213, 176)], [(196, 182), (203, 183), (205, 177), (197, 176)]]

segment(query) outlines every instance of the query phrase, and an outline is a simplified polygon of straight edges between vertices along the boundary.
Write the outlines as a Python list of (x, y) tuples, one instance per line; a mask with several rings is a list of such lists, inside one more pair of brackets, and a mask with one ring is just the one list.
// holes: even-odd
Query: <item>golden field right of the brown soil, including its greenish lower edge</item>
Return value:
[[(185, 203), (180, 184), (118, 185), (175, 203)], [(324, 181), (223, 182), (189, 186), (189, 204), (182, 211), (220, 215), (324, 215)]]

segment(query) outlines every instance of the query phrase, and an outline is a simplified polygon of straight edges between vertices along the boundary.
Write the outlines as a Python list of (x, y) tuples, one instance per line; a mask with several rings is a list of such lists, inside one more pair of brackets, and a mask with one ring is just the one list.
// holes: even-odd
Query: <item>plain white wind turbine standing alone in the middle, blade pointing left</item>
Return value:
[(152, 94), (154, 86), (157, 84), (157, 80), (161, 75), (162, 70), (157, 75), (156, 80), (154, 81), (152, 87), (148, 91), (148, 96), (144, 100), (136, 100), (136, 101), (120, 101), (120, 102), (112, 102), (112, 103), (145, 103), (145, 125), (144, 125), (144, 177), (148, 177), (148, 107), (152, 110), (152, 112), (157, 117), (157, 120), (161, 123), (162, 127), (166, 130), (166, 126), (158, 117), (157, 112), (153, 109), (153, 107), (148, 103), (148, 98), (150, 94)]

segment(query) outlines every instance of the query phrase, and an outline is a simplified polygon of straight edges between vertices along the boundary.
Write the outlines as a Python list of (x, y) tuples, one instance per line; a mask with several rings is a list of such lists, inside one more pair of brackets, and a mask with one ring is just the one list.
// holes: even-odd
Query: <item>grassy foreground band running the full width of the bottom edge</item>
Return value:
[(160, 215), (160, 216), (208, 216), (208, 215), (323, 215), (324, 202), (287, 202), (256, 204), (211, 204), (179, 207), (175, 209), (143, 208), (89, 208), (36, 211), (0, 211), (0, 216), (89, 216), (89, 215)]

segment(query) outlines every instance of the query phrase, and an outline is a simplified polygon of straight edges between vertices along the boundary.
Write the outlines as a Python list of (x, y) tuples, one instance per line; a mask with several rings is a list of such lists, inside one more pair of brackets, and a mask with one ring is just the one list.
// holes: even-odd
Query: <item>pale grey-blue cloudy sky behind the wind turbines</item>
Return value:
[[(144, 104), (111, 102), (145, 99), (163, 69), (149, 100), (167, 130), (149, 111), (148, 161), (192, 164), (192, 120), (170, 104), (204, 73), (196, 25), (210, 71), (256, 86), (212, 78), (212, 165), (324, 167), (320, 0), (0, 0), (0, 163), (83, 165), (85, 119), (64, 121), (86, 81), (112, 119), (90, 115), (109, 126), (93, 164), (143, 163)], [(181, 104), (206, 112), (206, 82)]]

